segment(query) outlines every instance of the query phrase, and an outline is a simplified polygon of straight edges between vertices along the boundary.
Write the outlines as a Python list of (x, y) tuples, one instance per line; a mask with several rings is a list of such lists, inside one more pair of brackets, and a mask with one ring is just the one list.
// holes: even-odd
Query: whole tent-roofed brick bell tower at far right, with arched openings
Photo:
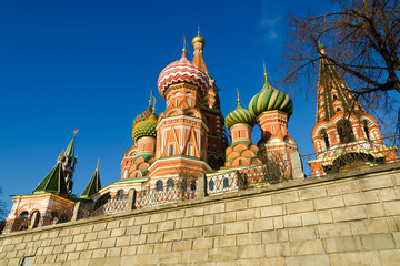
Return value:
[(340, 171), (350, 162), (377, 164), (397, 160), (381, 140), (378, 121), (363, 110), (324, 57), (323, 44), (319, 45), (319, 53), (317, 114), (311, 133), (317, 158), (309, 162), (313, 174)]

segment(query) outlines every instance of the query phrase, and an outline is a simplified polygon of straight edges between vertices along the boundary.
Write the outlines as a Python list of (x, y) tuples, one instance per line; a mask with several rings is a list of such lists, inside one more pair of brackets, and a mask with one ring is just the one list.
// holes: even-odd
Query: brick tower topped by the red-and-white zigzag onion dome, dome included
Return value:
[(159, 116), (156, 161), (149, 176), (211, 172), (206, 162), (209, 127), (201, 112), (209, 90), (207, 73), (187, 60), (183, 48), (181, 59), (161, 71), (158, 89), (167, 106)]

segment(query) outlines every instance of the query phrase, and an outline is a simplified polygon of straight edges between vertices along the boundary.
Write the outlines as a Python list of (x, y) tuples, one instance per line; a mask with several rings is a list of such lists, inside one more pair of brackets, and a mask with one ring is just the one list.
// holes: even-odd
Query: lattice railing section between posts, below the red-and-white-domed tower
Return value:
[(137, 192), (136, 208), (196, 198), (197, 180), (180, 180)]

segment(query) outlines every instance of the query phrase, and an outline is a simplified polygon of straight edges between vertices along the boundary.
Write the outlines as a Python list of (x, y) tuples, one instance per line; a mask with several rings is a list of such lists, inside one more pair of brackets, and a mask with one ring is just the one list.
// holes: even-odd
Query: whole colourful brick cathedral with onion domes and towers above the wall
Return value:
[[(289, 95), (273, 88), (264, 73), (264, 84), (254, 92), (249, 104), (242, 103), (238, 95), (237, 108), (224, 119), (220, 109), (220, 89), (203, 59), (206, 40), (200, 32), (192, 39), (192, 61), (187, 59), (183, 48), (181, 58), (159, 74), (158, 92), (166, 100), (164, 111), (157, 113), (156, 100), (150, 96), (147, 109), (134, 116), (134, 143), (122, 154), (120, 180), (102, 186), (98, 165), (83, 193), (79, 197), (72, 194), (77, 164), (74, 132), (54, 167), (32, 194), (13, 196), (7, 221), (29, 217), (33, 221), (30, 226), (33, 226), (41, 223), (43, 214), (73, 207), (79, 202), (126, 198), (132, 190), (168, 190), (183, 177), (236, 172), (264, 165), (271, 160), (300, 161), (296, 141), (288, 132), (293, 112)], [(382, 137), (378, 121), (354, 100), (339, 72), (323, 58), (326, 48), (320, 45), (318, 52), (321, 60), (316, 125), (311, 136), (319, 155), (313, 161), (303, 162), (310, 165), (314, 176), (336, 167), (338, 154), (334, 149), (347, 145), (360, 150), (372, 145), (369, 144), (371, 140)], [(343, 119), (344, 113), (351, 113), (349, 119)], [(261, 131), (257, 143), (251, 139), (256, 125)], [(369, 154), (371, 158), (390, 152), (383, 143), (368, 146), (373, 150)], [(300, 174), (293, 174), (294, 168), (290, 171), (292, 178), (304, 178), (302, 171)]]

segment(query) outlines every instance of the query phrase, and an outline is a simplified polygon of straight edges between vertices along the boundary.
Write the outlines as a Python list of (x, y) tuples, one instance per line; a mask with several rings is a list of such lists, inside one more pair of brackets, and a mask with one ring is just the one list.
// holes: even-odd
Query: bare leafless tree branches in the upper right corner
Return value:
[[(289, 16), (292, 41), (286, 54), (289, 88), (316, 88), (323, 57), (342, 74), (367, 108), (390, 105), (390, 91), (400, 93), (400, 4), (397, 0), (332, 0), (340, 11), (298, 18)], [(318, 51), (320, 43), (327, 53)], [(306, 82), (304, 82), (306, 78)], [(311, 82), (313, 85), (311, 85)]]

